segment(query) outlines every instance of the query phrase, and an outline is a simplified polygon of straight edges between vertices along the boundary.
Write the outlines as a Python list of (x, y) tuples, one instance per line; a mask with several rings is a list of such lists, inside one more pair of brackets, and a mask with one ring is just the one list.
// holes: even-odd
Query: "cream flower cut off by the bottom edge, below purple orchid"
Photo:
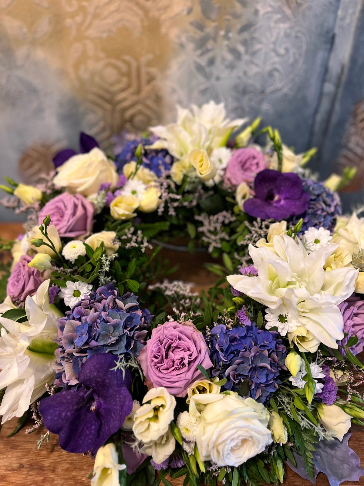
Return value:
[(119, 486), (119, 471), (126, 469), (118, 463), (115, 444), (101, 446), (95, 457), (91, 486)]

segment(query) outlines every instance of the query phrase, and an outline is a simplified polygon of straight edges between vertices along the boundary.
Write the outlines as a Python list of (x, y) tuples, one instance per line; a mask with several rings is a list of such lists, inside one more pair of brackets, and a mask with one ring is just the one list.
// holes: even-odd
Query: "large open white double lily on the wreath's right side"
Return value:
[(337, 306), (353, 293), (358, 270), (324, 270), (336, 245), (308, 254), (298, 239), (284, 234), (275, 235), (270, 243), (271, 248), (249, 245), (257, 277), (230, 275), (228, 282), (268, 307), (271, 315), (281, 312), (278, 320), (288, 323), (282, 333), (286, 332), (300, 351), (314, 352), (320, 343), (337, 348), (336, 341), (344, 337), (343, 317)]

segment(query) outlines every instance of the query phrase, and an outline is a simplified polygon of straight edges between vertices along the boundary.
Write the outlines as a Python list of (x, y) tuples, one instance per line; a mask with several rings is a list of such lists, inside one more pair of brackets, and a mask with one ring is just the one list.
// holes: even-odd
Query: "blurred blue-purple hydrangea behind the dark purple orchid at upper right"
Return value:
[(309, 227), (323, 227), (333, 233), (336, 216), (341, 214), (340, 198), (336, 192), (330, 191), (323, 182), (314, 182), (311, 179), (303, 180), (303, 190), (310, 195), (308, 208), (302, 214), (295, 216), (292, 223), (295, 225), (299, 219), (303, 219), (299, 235), (302, 235)]

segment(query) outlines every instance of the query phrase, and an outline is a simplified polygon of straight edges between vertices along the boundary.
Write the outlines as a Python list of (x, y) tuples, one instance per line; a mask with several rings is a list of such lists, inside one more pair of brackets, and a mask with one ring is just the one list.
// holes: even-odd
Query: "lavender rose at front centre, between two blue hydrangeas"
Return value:
[(192, 322), (173, 321), (152, 330), (138, 359), (154, 387), (164, 386), (170, 395), (185, 397), (191, 383), (203, 377), (197, 365), (213, 366), (209, 355), (202, 333)]

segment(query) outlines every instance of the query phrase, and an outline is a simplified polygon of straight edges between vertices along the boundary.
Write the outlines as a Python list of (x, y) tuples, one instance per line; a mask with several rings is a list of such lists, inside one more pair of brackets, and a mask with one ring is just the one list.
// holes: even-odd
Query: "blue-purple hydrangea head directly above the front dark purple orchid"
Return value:
[(55, 384), (79, 382), (86, 360), (98, 353), (137, 357), (145, 345), (151, 315), (140, 309), (133, 294), (120, 296), (112, 283), (85, 296), (57, 322)]

